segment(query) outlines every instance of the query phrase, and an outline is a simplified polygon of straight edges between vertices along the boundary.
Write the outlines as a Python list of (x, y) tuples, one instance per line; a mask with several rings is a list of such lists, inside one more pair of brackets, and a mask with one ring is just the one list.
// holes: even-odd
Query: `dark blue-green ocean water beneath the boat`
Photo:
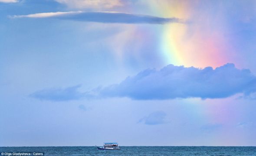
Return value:
[(120, 150), (98, 150), (95, 146), (0, 147), (0, 152), (44, 152), (45, 156), (256, 156), (256, 147), (252, 146), (120, 146), (120, 148)]

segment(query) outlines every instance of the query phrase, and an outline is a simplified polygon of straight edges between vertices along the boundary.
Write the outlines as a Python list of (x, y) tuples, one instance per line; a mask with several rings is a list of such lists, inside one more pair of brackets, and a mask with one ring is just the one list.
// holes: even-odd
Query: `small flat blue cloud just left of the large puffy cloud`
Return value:
[(81, 87), (81, 84), (68, 87), (68, 88), (49, 88), (36, 91), (30, 94), (30, 97), (45, 100), (45, 101), (71, 101), (79, 100), (82, 97), (86, 97), (85, 93), (80, 93), (77, 89)]

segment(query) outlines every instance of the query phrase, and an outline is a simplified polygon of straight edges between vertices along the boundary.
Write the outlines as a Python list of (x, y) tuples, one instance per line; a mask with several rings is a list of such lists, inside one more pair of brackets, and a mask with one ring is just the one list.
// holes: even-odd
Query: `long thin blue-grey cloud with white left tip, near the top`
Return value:
[(98, 23), (148, 23), (148, 24), (164, 24), (164, 23), (182, 23), (177, 18), (161, 18), (157, 16), (138, 15), (121, 12), (53, 12), (53, 13), (35, 13), (29, 15), (14, 15), (11, 18), (56, 18), (62, 20), (76, 20), (85, 22)]

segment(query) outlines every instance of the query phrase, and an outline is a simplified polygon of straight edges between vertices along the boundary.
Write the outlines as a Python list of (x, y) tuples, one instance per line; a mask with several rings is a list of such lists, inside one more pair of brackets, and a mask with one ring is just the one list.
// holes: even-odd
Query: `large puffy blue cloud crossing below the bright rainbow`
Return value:
[(237, 93), (256, 92), (256, 77), (248, 69), (226, 64), (194, 68), (167, 65), (161, 70), (147, 69), (120, 84), (98, 89), (100, 97), (129, 97), (136, 100), (164, 100), (200, 97), (224, 98)]

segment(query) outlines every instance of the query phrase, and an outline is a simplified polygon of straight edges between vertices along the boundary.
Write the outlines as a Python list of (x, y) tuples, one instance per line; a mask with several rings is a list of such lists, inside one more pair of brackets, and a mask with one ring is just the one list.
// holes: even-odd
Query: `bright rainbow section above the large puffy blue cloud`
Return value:
[[(206, 15), (198, 15), (191, 1), (151, 1), (155, 16), (176, 17), (189, 23), (171, 23), (163, 26), (158, 49), (165, 64), (213, 68), (232, 62), (225, 55), (232, 47), (223, 35), (223, 29), (209, 27), (213, 22)], [(207, 23), (208, 22), (208, 23)], [(224, 22), (223, 22), (224, 23)]]

